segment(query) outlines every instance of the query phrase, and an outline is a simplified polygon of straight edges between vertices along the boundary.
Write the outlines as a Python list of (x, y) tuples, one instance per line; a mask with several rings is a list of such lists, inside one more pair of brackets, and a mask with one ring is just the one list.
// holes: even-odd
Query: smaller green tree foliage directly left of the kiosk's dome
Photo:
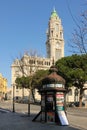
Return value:
[(18, 77), (15, 83), (18, 88), (34, 88), (40, 89), (42, 87), (41, 80), (48, 74), (48, 70), (38, 70), (34, 75), (28, 77)]

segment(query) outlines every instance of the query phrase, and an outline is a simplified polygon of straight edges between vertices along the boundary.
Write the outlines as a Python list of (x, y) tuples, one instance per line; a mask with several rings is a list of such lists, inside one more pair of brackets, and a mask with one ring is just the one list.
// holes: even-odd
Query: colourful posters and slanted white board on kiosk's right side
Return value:
[(65, 111), (64, 111), (64, 93), (57, 92), (56, 93), (56, 110), (58, 113), (58, 117), (62, 125), (69, 125)]

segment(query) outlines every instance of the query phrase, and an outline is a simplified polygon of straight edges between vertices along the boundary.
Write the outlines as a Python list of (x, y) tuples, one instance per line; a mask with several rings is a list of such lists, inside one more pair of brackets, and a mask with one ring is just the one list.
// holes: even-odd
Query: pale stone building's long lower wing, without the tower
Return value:
[[(23, 61), (22, 61), (23, 60)], [(50, 66), (52, 65), (52, 60), (49, 58), (41, 58), (41, 57), (33, 57), (33, 56), (28, 56), (27, 54), (24, 54), (22, 59), (18, 60), (16, 59), (11, 68), (12, 68), (12, 86), (15, 84), (15, 80), (17, 77), (23, 76), (22, 71), (20, 70), (20, 65), (24, 64), (24, 75), (29, 76), (35, 73), (35, 71), (40, 70), (40, 69), (49, 69)], [(22, 96), (22, 89), (18, 89), (15, 86), (15, 96)], [(36, 94), (36, 99), (40, 99), (39, 93), (37, 93), (37, 90), (35, 90)], [(24, 89), (24, 95), (28, 96), (29, 95), (29, 90)]]

